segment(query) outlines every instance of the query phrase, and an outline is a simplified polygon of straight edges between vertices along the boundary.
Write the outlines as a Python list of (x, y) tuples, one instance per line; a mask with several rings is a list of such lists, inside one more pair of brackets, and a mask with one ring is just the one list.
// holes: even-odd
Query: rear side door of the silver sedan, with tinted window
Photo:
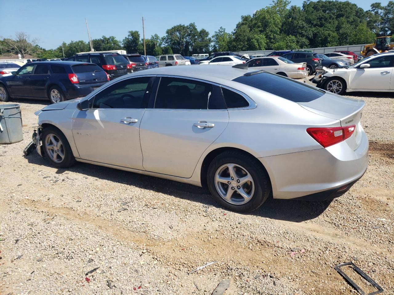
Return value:
[[(157, 79), (157, 78), (156, 78)], [(194, 79), (161, 77), (153, 108), (140, 126), (143, 167), (189, 178), (204, 151), (224, 131), (229, 114), (219, 86)]]

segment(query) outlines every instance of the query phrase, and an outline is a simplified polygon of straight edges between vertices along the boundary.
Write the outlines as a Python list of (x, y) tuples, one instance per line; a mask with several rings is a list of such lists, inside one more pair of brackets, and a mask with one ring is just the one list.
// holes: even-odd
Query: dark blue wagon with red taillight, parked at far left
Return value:
[(11, 98), (49, 99), (51, 103), (84, 97), (110, 80), (93, 63), (42, 61), (21, 66), (0, 78), (0, 101)]

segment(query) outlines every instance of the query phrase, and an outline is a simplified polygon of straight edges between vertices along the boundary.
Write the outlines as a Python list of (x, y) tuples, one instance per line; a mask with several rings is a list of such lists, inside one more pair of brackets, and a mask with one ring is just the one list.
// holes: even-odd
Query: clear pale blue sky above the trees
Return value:
[[(378, 0), (351, 1), (363, 9)], [(302, 6), (302, 0), (293, 0), (291, 5)], [(381, 3), (386, 5), (388, 0)], [(0, 36), (10, 37), (17, 31), (24, 31), (31, 38), (38, 38), (39, 45), (50, 49), (62, 41), (87, 41), (85, 18), (92, 39), (102, 35), (115, 36), (122, 40), (127, 31), (138, 30), (142, 38), (141, 17), (145, 21), (145, 37), (157, 33), (160, 37), (165, 30), (177, 24), (195, 22), (198, 29), (204, 28), (212, 35), (220, 26), (232, 31), (241, 15), (272, 3), (271, 0), (248, 0), (247, 2), (226, 0), (198, 0), (183, 4), (173, 0), (0, 0)], [(244, 4), (246, 3), (246, 4)]]

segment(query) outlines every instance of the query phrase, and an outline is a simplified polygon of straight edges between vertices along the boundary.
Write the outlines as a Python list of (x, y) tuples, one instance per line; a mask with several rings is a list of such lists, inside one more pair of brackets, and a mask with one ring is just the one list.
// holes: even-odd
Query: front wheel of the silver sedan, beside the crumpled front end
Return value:
[(56, 127), (43, 131), (44, 153), (56, 168), (67, 168), (75, 164), (75, 158), (66, 136)]

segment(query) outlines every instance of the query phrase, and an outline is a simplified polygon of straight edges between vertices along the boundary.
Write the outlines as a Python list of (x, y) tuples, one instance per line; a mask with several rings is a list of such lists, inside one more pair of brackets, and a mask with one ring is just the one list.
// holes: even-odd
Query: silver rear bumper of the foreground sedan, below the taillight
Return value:
[(368, 166), (364, 130), (359, 147), (340, 142), (327, 148), (259, 158), (266, 167), (275, 199), (332, 199), (345, 193)]

